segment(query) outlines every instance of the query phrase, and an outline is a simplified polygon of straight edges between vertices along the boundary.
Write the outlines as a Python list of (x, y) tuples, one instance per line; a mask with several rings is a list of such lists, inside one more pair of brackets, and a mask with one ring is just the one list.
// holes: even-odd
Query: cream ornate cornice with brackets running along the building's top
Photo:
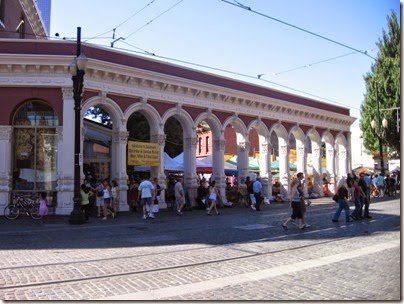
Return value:
[[(67, 87), (74, 56), (0, 54), (0, 86)], [(89, 58), (85, 89), (349, 131), (354, 117), (279, 98)]]

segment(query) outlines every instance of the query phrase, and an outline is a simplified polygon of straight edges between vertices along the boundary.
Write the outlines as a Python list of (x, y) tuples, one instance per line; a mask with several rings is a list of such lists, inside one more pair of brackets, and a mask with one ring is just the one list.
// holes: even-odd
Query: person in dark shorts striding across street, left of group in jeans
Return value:
[(288, 229), (288, 224), (294, 222), (296, 219), (300, 221), (299, 229), (304, 229), (310, 227), (304, 222), (304, 200), (302, 199), (303, 187), (301, 180), (303, 179), (303, 173), (297, 173), (297, 178), (291, 183), (291, 207), (292, 215), (284, 223), (282, 223), (283, 229)]

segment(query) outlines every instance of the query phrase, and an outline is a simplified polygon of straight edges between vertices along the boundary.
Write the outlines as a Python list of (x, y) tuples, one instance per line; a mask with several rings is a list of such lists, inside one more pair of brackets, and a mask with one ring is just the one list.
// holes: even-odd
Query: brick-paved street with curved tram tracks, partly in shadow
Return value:
[(286, 232), (287, 203), (80, 226), (0, 219), (0, 298), (400, 300), (400, 200), (379, 200), (374, 219), (348, 225), (331, 222), (335, 208), (313, 200), (312, 227)]

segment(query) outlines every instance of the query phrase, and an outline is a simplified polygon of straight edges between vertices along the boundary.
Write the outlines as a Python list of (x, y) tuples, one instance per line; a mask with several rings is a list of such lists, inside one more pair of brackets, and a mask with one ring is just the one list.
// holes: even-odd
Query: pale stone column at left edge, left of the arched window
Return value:
[(11, 158), (11, 139), (13, 127), (0, 126), (0, 208), (4, 210), (10, 202), (13, 176)]

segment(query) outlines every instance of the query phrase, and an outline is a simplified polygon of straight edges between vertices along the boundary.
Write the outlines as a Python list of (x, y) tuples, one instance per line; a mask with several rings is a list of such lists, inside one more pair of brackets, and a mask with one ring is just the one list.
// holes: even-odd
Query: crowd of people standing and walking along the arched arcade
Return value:
[[(325, 176), (323, 176), (326, 178)], [(310, 181), (309, 181), (310, 182)], [(328, 189), (329, 183), (324, 183)], [(310, 227), (305, 222), (306, 198), (303, 194), (304, 176), (299, 172), (291, 182), (290, 207), (291, 216), (282, 223), (286, 230), (290, 223), (297, 224), (299, 229)], [(338, 207), (332, 216), (333, 222), (338, 222), (342, 211), (345, 212), (345, 221), (370, 219), (369, 203), (371, 196), (393, 196), (396, 195), (400, 185), (399, 175), (376, 174), (371, 176), (367, 173), (359, 175), (349, 173), (346, 178), (339, 180), (335, 189), (335, 200)], [(251, 178), (247, 176), (237, 186), (237, 203), (241, 207), (250, 208), (253, 211), (260, 211), (262, 204), (269, 201), (264, 200), (262, 182), (259, 176)], [(142, 219), (154, 219), (159, 212), (161, 191), (165, 190), (165, 202), (169, 209), (172, 209), (178, 216), (183, 211), (191, 208), (189, 193), (184, 186), (182, 176), (169, 176), (167, 182), (160, 185), (157, 178), (131, 178), (128, 185), (128, 204), (133, 212), (140, 212)], [(285, 194), (278, 179), (272, 184), (273, 201), (283, 202)], [(327, 195), (333, 195), (331, 192)], [(108, 217), (116, 218), (119, 206), (119, 186), (116, 181), (109, 182), (108, 179), (98, 181), (86, 181), (81, 185), (81, 205), (86, 221), (89, 220), (91, 210), (95, 207), (97, 217), (107, 220)], [(45, 200), (46, 198), (43, 198)], [(206, 211), (206, 214), (219, 215), (218, 207), (223, 207), (223, 198), (214, 180), (207, 180), (202, 176), (196, 196), (197, 207)], [(289, 199), (288, 199), (289, 200)], [(349, 203), (353, 203), (351, 212)], [(42, 204), (44, 205), (44, 204)], [(43, 208), (44, 209), (44, 208)], [(43, 219), (46, 219), (46, 210), (41, 211)]]

